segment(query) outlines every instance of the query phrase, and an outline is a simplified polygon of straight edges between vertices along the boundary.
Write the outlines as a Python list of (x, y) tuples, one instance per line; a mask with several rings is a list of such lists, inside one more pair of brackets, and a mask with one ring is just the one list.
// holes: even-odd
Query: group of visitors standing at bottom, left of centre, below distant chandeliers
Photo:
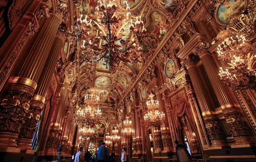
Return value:
[[(72, 157), (73, 162), (90, 162), (91, 156), (92, 156), (90, 154), (90, 151), (88, 150), (84, 155), (83, 155), (83, 151), (84, 151), (84, 147), (80, 147), (79, 151), (76, 154), (74, 154)], [(110, 155), (110, 162), (115, 161), (114, 160), (115, 156), (116, 155), (113, 151)], [(109, 159), (108, 148), (106, 147), (106, 143), (103, 142), (96, 153), (95, 162), (107, 162), (108, 159)], [(122, 148), (121, 161), (126, 162), (125, 148)]]

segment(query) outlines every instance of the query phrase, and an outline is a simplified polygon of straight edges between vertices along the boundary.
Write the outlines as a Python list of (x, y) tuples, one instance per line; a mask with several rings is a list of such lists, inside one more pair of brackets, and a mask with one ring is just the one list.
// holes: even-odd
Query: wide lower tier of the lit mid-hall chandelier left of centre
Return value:
[(80, 125), (90, 126), (92, 124), (99, 123), (101, 120), (101, 109), (96, 109), (95, 106), (85, 106), (83, 109), (79, 108), (75, 114), (75, 122)]

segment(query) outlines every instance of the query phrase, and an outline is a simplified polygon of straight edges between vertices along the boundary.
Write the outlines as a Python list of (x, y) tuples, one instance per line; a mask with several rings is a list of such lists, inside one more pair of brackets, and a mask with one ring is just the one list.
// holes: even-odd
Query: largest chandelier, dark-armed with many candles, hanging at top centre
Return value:
[[(142, 49), (137, 45), (140, 46), (142, 38), (146, 35), (141, 17), (133, 24), (127, 1), (124, 1), (123, 7), (126, 9), (126, 17), (123, 16), (124, 13), (117, 14), (119, 8), (122, 8), (120, 3), (120, 0), (99, 0), (95, 8), (96, 20), (87, 20), (87, 16), (82, 20), (81, 15), (75, 27), (75, 35), (83, 43), (80, 50), (85, 61), (102, 60), (111, 71), (120, 61), (138, 61)], [(134, 39), (123, 36), (123, 28), (128, 23)], [(98, 30), (96, 36), (90, 34), (92, 28)]]

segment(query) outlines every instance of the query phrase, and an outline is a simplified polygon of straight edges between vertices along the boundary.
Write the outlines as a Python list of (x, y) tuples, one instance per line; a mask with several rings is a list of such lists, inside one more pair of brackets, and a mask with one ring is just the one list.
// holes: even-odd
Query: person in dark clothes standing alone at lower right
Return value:
[(177, 159), (179, 162), (192, 162), (191, 155), (189, 154), (189, 151), (183, 145), (182, 143), (179, 143), (177, 140), (175, 140), (176, 144), (176, 154), (177, 154)]

